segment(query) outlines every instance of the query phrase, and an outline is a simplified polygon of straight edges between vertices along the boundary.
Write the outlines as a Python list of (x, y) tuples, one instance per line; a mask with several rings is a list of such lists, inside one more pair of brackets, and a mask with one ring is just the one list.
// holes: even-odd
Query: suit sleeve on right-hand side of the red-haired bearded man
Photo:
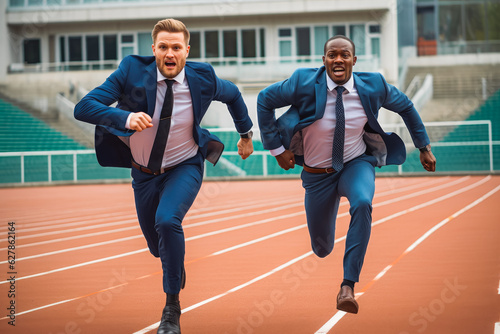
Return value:
[(238, 131), (238, 133), (247, 133), (252, 129), (253, 123), (248, 115), (248, 109), (241, 96), (240, 90), (231, 81), (219, 79), (215, 73), (213, 73), (213, 75), (216, 83), (214, 100), (227, 105), (227, 109), (233, 118), (236, 131)]

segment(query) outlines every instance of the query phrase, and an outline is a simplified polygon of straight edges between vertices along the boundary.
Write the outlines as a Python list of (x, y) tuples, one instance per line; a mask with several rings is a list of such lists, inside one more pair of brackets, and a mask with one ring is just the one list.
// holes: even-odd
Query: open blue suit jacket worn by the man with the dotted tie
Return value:
[[(377, 158), (377, 166), (399, 165), (406, 159), (403, 141), (395, 133), (386, 133), (377, 121), (381, 107), (397, 112), (403, 118), (416, 147), (429, 144), (424, 124), (408, 97), (389, 85), (380, 73), (353, 73), (361, 104), (368, 122), (364, 141), (367, 153)], [(303, 164), (301, 130), (323, 117), (327, 83), (325, 67), (301, 68), (289, 79), (262, 90), (257, 100), (257, 115), (264, 148), (272, 150), (283, 145)], [(290, 106), (278, 119), (275, 108)]]

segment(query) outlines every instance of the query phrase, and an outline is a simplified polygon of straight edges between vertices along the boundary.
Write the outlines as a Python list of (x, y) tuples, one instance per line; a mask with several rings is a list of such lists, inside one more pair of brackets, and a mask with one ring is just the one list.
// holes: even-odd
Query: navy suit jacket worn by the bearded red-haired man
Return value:
[[(239, 133), (248, 132), (252, 121), (236, 85), (219, 79), (212, 66), (186, 62), (185, 72), (193, 101), (193, 137), (203, 157), (215, 164), (224, 145), (200, 126), (210, 103), (216, 100), (227, 104)], [(128, 137), (135, 132), (125, 128), (130, 112), (143, 111), (153, 117), (156, 79), (154, 57), (128, 56), (101, 86), (89, 92), (75, 106), (76, 119), (97, 125), (95, 149), (100, 165), (131, 167), (130, 149), (118, 136)], [(118, 102), (116, 107), (109, 107), (114, 102)]]

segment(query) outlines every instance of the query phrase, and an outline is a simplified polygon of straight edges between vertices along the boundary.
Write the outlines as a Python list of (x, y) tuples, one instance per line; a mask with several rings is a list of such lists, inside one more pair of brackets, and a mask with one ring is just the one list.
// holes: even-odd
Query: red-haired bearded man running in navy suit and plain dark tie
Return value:
[(176, 334), (186, 279), (182, 220), (201, 187), (204, 161), (215, 165), (224, 149), (201, 120), (212, 101), (225, 103), (241, 136), (243, 159), (253, 152), (252, 121), (233, 83), (219, 79), (208, 64), (186, 62), (189, 31), (182, 22), (159, 21), (152, 37), (154, 57), (124, 58), (77, 104), (75, 117), (97, 125), (102, 166), (132, 168), (139, 224), (163, 268), (166, 305), (158, 333)]

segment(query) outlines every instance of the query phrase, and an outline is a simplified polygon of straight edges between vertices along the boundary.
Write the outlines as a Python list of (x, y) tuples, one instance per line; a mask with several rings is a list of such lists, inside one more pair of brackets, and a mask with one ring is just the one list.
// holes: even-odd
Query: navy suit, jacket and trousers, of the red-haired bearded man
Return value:
[[(132, 169), (139, 223), (151, 253), (161, 259), (163, 288), (169, 294), (180, 291), (185, 243), (182, 220), (201, 187), (204, 160), (215, 165), (224, 149), (216, 136), (200, 126), (201, 120), (215, 100), (227, 105), (239, 133), (252, 128), (238, 88), (219, 79), (212, 66), (188, 61), (185, 74), (193, 103), (193, 137), (199, 146), (198, 154), (158, 176)], [(156, 86), (155, 58), (128, 56), (101, 86), (76, 105), (75, 118), (96, 125), (96, 155), (102, 166), (131, 167), (130, 149), (119, 136), (134, 133), (125, 128), (130, 112), (142, 111), (153, 117)], [(116, 107), (109, 107), (114, 102), (118, 102)]]

